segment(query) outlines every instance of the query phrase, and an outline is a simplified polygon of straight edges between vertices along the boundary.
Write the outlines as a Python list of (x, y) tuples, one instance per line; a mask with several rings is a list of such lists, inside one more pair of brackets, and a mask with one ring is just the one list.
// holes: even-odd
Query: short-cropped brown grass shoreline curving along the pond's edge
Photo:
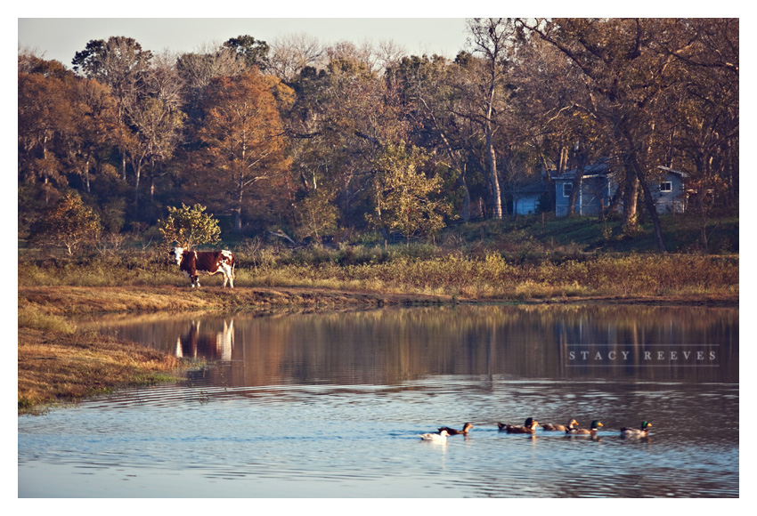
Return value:
[[(470, 300), (425, 294), (375, 293), (307, 287), (19, 287), (18, 410), (47, 407), (119, 387), (177, 381), (188, 363), (134, 343), (78, 331), (73, 318), (126, 312), (187, 310), (365, 310), (449, 304), (644, 304), (738, 307), (738, 295), (591, 296)], [(21, 313), (26, 314), (21, 324)], [(33, 314), (35, 318), (29, 318)], [(28, 320), (37, 322), (29, 323)], [(39, 322), (41, 321), (41, 322)], [(53, 324), (50, 323), (53, 321)], [(61, 329), (62, 328), (62, 329)]]

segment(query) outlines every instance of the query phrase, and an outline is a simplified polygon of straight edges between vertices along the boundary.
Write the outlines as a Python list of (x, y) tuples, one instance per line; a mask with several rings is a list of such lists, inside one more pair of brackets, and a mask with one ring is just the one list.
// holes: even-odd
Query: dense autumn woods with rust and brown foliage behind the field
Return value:
[(518, 187), (600, 158), (623, 178), (603, 215), (627, 236), (647, 217), (661, 251), (659, 166), (688, 174), (686, 216), (737, 213), (737, 19), (472, 19), (468, 33), (454, 60), (304, 34), (181, 55), (111, 36), (70, 69), (20, 49), (19, 236), (76, 194), (98, 238), (201, 205), (224, 238), (409, 241), (509, 217)]

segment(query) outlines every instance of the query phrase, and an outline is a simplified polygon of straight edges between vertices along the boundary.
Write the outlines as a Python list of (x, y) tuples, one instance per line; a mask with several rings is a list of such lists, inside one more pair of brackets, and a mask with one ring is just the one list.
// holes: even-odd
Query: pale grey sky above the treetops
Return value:
[(465, 47), (464, 18), (20, 18), (19, 44), (71, 68), (74, 54), (93, 39), (132, 37), (153, 53), (193, 52), (209, 43), (249, 35), (272, 43), (305, 32), (322, 44), (394, 41), (407, 53), (453, 58)]

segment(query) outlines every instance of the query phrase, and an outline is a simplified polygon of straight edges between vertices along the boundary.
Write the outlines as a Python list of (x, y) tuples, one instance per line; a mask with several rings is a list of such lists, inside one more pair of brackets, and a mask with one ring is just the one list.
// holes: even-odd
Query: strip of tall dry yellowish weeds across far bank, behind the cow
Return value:
[[(267, 254), (266, 254), (267, 253)], [(237, 287), (291, 287), (436, 295), (470, 301), (552, 297), (737, 295), (738, 255), (507, 254), (466, 255), (431, 246), (345, 246), (246, 253), (236, 250)], [(204, 286), (219, 286), (219, 276)], [(162, 254), (82, 260), (27, 260), (19, 286), (186, 287)], [(127, 295), (128, 290), (126, 290)], [(170, 302), (166, 302), (170, 308)], [(127, 297), (126, 310), (159, 310)]]

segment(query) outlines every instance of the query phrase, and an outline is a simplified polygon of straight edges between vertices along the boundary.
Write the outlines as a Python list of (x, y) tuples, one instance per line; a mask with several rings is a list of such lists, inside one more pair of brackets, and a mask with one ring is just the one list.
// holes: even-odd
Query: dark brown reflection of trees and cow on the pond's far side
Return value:
[(231, 385), (393, 384), (425, 375), (737, 383), (737, 318), (734, 309), (540, 305), (94, 324), (179, 357), (228, 362), (216, 374)]

